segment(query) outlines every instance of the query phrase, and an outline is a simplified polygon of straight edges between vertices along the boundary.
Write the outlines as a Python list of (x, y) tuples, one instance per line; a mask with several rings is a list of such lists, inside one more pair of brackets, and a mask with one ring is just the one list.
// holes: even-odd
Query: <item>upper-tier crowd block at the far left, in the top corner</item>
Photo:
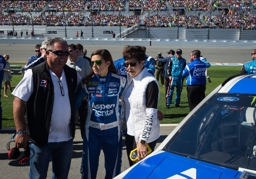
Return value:
[(28, 1), (1, 1), (3, 7), (8, 6), (8, 8), (15, 9), (17, 12), (38, 12), (47, 5), (48, 0), (28, 0)]

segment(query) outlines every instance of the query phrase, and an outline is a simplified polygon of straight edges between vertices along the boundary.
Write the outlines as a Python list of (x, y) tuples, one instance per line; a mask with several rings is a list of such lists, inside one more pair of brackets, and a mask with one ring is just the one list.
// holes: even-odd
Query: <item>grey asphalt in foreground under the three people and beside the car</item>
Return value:
[[(175, 126), (164, 126), (160, 127), (161, 136), (157, 139), (156, 148), (160, 143), (164, 141), (164, 139), (171, 133), (171, 131), (175, 128)], [(29, 174), (29, 162), (27, 164), (20, 165), (17, 160), (9, 160), (8, 158), (8, 150), (6, 148), (6, 144), (11, 140), (10, 138), (15, 133), (15, 130), (0, 130), (0, 178), (7, 179), (27, 179)], [(122, 168), (121, 171), (129, 168), (129, 163), (126, 155), (126, 147), (124, 143), (125, 139), (123, 137), (123, 155), (122, 155)], [(80, 167), (82, 161), (82, 145), (83, 140), (80, 134), (80, 129), (76, 129), (76, 136), (73, 144), (73, 155), (71, 160), (71, 166), (69, 170), (69, 179), (78, 179), (81, 178)], [(14, 143), (10, 145), (10, 147), (14, 147)], [(23, 149), (20, 149), (23, 151)], [(101, 149), (100, 152), (100, 160), (99, 160), (99, 168), (97, 173), (97, 179), (103, 179), (105, 177), (105, 167), (104, 167), (104, 154)], [(52, 178), (52, 162), (49, 164), (47, 179)]]

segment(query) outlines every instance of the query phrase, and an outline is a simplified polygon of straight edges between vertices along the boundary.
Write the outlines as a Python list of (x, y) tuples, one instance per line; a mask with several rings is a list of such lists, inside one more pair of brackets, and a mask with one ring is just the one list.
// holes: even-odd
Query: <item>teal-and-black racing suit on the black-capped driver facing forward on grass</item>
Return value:
[(171, 76), (170, 84), (167, 91), (167, 99), (166, 99), (166, 105), (170, 106), (172, 94), (174, 91), (174, 86), (176, 85), (176, 98), (175, 98), (175, 105), (180, 104), (180, 95), (182, 92), (182, 86), (183, 86), (183, 77), (182, 77), (182, 71), (184, 70), (186, 66), (186, 60), (184, 58), (178, 59), (177, 57), (171, 58), (169, 65), (167, 67), (167, 74)]

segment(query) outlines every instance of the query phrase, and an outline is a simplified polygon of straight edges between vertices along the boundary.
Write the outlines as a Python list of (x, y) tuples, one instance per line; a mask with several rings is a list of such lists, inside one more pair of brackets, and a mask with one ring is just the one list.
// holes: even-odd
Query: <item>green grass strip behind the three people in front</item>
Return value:
[[(12, 63), (11, 65), (13, 65)], [(15, 65), (24, 65), (24, 64), (15, 64)], [(205, 95), (207, 96), (212, 92), (213, 89), (218, 87), (224, 80), (226, 80), (229, 76), (234, 74), (239, 74), (241, 70), (241, 66), (211, 66), (207, 69), (207, 72), (212, 80), (212, 83), (209, 83), (207, 80)], [(14, 89), (17, 84), (20, 82), (21, 76), (13, 76), (11, 86)], [(160, 82), (161, 84), (161, 82)], [(173, 102), (176, 96), (176, 89), (173, 94)], [(7, 95), (9, 97), (4, 97), (4, 83), (2, 83), (1, 90), (1, 102), (3, 108), (3, 128), (6, 127), (15, 127), (13, 122), (13, 109), (12, 102), (14, 97), (11, 95), (9, 89), (7, 89)], [(165, 115), (164, 120), (161, 122), (163, 124), (168, 123), (180, 123), (189, 113), (188, 107), (188, 98), (187, 98), (187, 85), (184, 81), (183, 91), (181, 94), (181, 102), (180, 106), (182, 108), (175, 108), (174, 104), (170, 105), (170, 109), (165, 109), (165, 87), (160, 86), (160, 99), (158, 103), (158, 109), (162, 111)]]

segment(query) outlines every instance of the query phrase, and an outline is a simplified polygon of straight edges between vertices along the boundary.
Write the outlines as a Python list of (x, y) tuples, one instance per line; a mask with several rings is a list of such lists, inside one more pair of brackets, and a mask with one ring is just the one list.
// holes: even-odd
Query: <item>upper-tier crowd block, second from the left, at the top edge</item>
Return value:
[(57, 8), (57, 11), (84, 11), (86, 0), (52, 0), (48, 8)]

